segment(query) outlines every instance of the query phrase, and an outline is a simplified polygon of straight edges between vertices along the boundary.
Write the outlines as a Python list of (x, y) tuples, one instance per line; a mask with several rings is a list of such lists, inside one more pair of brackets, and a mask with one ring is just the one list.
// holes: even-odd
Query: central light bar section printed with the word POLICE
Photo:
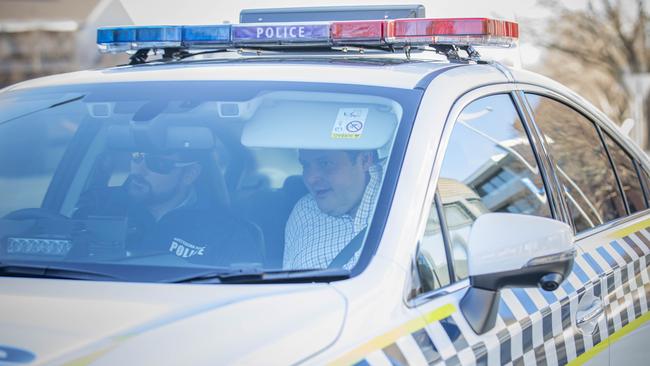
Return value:
[(329, 44), (330, 23), (276, 23), (258, 25), (233, 25), (231, 31), (235, 45), (255, 44)]

